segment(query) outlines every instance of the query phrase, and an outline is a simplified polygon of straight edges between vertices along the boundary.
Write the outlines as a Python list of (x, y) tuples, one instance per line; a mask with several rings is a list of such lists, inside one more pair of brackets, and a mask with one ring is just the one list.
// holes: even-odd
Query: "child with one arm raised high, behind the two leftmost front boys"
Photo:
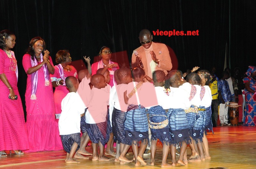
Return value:
[[(89, 101), (90, 101), (91, 88), (90, 88), (89, 84), (91, 82), (90, 78), (91, 78), (91, 74), (92, 74), (92, 69), (91, 69), (91, 64), (90, 64), (90, 58), (89, 57), (86, 58), (86, 56), (84, 56), (84, 60), (87, 62), (88, 70), (83, 69), (83, 71), (81, 70), (82, 72), (81, 71), (78, 72), (78, 80), (80, 78), (81, 82), (78, 86), (77, 93), (82, 98), (84, 105), (86, 107), (86, 109), (85, 109), (85, 111), (86, 111), (89, 106)], [(86, 156), (92, 156), (92, 153), (89, 153), (88, 151), (85, 150), (86, 145), (90, 141), (90, 138), (87, 134), (87, 125), (85, 123), (85, 116), (81, 117), (80, 126), (81, 126), (81, 131), (82, 131), (83, 135), (81, 137), (80, 148), (78, 151), (76, 151), (76, 155), (80, 156), (80, 157), (84, 157), (81, 154), (86, 155)]]

